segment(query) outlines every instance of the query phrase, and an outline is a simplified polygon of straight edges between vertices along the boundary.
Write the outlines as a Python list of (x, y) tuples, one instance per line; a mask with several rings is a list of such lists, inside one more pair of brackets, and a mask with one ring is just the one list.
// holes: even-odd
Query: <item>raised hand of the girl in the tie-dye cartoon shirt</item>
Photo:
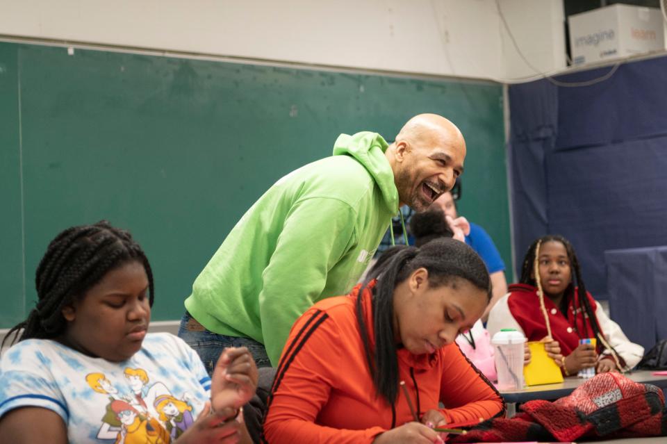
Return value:
[(257, 389), (257, 365), (246, 347), (227, 348), (217, 360), (211, 380), (211, 407), (240, 409)]

